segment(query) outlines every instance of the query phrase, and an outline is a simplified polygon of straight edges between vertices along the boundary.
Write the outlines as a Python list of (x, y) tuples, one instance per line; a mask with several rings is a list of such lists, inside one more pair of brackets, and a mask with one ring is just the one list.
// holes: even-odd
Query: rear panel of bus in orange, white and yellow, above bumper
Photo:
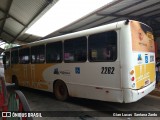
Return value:
[(130, 25), (136, 89), (140, 89), (155, 81), (154, 37), (145, 24), (131, 21)]

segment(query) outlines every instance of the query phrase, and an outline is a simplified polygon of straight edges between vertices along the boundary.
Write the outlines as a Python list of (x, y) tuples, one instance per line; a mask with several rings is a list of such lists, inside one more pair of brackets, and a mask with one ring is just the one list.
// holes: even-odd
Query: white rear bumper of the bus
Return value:
[(156, 82), (153, 82), (140, 90), (124, 89), (124, 103), (135, 102), (146, 96), (155, 89), (155, 83)]

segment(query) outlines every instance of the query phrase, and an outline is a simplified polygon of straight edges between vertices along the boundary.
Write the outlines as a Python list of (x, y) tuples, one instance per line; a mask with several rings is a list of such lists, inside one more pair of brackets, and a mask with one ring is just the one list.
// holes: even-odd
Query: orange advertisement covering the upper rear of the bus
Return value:
[(132, 50), (154, 52), (154, 37), (150, 27), (137, 21), (131, 21)]

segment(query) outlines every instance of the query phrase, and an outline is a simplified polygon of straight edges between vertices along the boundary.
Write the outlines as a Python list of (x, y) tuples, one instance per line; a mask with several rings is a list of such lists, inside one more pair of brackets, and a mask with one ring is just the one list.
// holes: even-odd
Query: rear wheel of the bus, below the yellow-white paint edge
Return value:
[(64, 101), (68, 98), (68, 96), (69, 96), (68, 89), (67, 89), (66, 84), (63, 81), (58, 80), (55, 82), (54, 94), (56, 96), (56, 99), (60, 100), (60, 101)]

